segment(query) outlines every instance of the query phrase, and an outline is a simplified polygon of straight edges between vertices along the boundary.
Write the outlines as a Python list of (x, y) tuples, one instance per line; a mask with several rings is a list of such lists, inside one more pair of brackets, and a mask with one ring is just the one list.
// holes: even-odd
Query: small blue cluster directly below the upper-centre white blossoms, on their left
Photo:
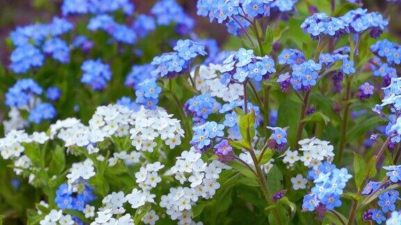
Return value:
[(193, 115), (192, 120), (196, 124), (204, 124), (214, 110), (219, 109), (219, 103), (210, 94), (201, 94), (188, 99), (184, 104), (184, 111)]

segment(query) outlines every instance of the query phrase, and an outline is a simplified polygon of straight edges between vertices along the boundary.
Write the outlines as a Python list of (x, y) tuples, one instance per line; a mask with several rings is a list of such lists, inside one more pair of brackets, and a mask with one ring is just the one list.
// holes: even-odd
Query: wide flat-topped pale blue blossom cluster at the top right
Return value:
[(370, 30), (372, 38), (378, 38), (388, 25), (377, 12), (368, 12), (366, 9), (358, 8), (350, 10), (342, 17), (329, 17), (324, 12), (318, 12), (305, 19), (301, 28), (309, 33), (313, 39), (340, 38), (345, 33), (363, 33)]

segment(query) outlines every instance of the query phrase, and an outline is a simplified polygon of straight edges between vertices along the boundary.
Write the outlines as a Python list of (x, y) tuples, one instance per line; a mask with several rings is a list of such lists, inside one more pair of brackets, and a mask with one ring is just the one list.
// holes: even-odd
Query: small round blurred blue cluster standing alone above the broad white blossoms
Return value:
[(91, 86), (93, 90), (103, 90), (111, 79), (109, 65), (102, 63), (102, 60), (86, 60), (81, 65), (84, 72), (81, 82)]

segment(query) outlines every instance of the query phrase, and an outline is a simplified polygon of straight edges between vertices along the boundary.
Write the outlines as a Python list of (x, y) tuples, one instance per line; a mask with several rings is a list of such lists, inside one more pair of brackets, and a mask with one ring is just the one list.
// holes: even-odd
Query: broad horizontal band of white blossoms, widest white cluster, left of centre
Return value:
[[(180, 120), (171, 118), (163, 108), (147, 110), (141, 107), (134, 112), (124, 106), (109, 105), (97, 107), (89, 125), (84, 126), (78, 119), (69, 118), (50, 126), (50, 133), (65, 142), (65, 147), (77, 145), (86, 147), (116, 135), (130, 134), (136, 150), (152, 152), (155, 139), (160, 137), (171, 148), (181, 143), (184, 135)], [(175, 144), (171, 144), (175, 143)]]

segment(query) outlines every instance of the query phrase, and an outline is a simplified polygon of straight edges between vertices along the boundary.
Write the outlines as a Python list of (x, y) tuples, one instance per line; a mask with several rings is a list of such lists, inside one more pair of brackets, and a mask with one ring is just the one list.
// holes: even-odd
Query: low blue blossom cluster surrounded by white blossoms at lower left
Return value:
[(82, 212), (87, 203), (96, 199), (93, 188), (88, 183), (78, 183), (71, 187), (63, 183), (56, 190), (54, 201), (61, 210), (77, 210)]

